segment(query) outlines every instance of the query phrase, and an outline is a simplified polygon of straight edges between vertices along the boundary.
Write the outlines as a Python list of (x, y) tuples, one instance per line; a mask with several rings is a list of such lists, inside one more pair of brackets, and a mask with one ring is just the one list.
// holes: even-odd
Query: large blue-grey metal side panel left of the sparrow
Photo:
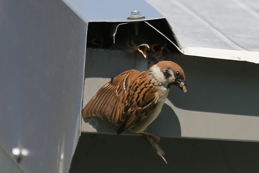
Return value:
[(0, 1), (0, 143), (31, 173), (68, 172), (80, 134), (86, 24), (60, 0)]

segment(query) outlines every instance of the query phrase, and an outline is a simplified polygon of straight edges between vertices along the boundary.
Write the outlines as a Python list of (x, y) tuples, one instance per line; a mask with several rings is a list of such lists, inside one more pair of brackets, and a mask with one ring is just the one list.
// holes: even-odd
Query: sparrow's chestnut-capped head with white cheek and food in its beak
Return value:
[(150, 67), (149, 70), (153, 77), (167, 88), (171, 85), (177, 85), (183, 92), (187, 92), (185, 75), (178, 64), (172, 61), (161, 61)]

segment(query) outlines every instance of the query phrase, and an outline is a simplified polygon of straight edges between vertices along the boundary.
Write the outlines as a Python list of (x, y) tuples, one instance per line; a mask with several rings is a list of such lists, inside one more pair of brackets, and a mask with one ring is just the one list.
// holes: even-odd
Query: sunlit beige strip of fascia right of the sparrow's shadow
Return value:
[(199, 112), (177, 108), (166, 99), (178, 117), (181, 137), (236, 141), (259, 141), (259, 117)]

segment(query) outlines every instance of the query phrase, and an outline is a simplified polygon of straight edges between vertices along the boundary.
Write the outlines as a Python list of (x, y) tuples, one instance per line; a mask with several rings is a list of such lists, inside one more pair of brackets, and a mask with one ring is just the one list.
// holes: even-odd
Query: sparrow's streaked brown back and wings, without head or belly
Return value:
[(82, 110), (82, 116), (105, 116), (121, 125), (122, 133), (143, 118), (156, 106), (156, 91), (146, 72), (128, 70), (105, 84)]

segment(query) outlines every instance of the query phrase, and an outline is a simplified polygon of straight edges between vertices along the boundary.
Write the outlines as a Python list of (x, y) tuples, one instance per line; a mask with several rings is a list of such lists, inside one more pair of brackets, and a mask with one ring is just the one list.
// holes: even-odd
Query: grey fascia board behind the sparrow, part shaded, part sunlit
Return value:
[[(138, 52), (87, 49), (87, 54), (83, 107), (110, 78), (129, 69), (147, 70), (146, 59)], [(163, 137), (259, 141), (257, 64), (181, 53), (163, 52), (163, 56), (183, 68), (187, 92), (171, 86), (160, 115), (148, 126), (150, 132)], [(115, 134), (116, 128), (106, 118), (89, 117), (83, 119), (81, 130)]]

